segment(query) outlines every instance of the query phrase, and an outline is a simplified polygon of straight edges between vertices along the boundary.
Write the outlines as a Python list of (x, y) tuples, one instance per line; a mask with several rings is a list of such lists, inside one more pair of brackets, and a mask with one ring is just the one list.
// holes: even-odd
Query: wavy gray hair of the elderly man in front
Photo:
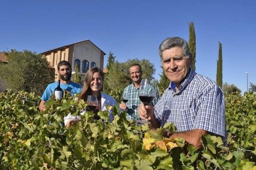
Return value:
[(187, 44), (187, 41), (179, 37), (171, 37), (164, 39), (159, 46), (159, 55), (161, 59), (163, 58), (163, 51), (171, 49), (172, 47), (181, 47), (183, 54), (186, 55), (187, 58), (190, 57), (189, 44)]

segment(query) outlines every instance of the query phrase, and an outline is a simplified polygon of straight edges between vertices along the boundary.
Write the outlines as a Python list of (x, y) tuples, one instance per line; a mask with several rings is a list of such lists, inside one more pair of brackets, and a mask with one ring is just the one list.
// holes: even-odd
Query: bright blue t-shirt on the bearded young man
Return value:
[[(44, 100), (45, 102), (49, 100), (51, 95), (54, 93), (54, 89), (58, 86), (57, 82), (50, 83), (45, 89), (45, 92), (43, 92), (43, 95), (41, 97), (41, 100)], [(66, 91), (69, 91), (71, 95), (77, 94), (82, 91), (82, 86), (80, 84), (69, 82), (67, 84), (61, 83), (61, 89), (66, 89)]]

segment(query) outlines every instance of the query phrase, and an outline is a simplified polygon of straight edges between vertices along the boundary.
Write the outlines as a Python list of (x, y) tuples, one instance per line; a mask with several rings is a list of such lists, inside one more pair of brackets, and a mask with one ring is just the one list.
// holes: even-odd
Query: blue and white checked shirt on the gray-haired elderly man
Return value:
[(226, 139), (224, 95), (214, 81), (190, 69), (178, 91), (174, 89), (171, 83), (155, 105), (161, 126), (174, 123), (179, 132), (203, 129)]

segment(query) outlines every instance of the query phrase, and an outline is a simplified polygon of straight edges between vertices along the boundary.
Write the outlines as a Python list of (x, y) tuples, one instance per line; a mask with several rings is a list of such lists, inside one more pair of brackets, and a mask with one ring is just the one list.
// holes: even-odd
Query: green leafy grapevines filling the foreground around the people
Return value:
[(69, 95), (58, 102), (46, 102), (38, 109), (40, 97), (23, 91), (0, 93), (0, 169), (255, 169), (256, 96), (226, 96), (228, 142), (220, 137), (202, 136), (197, 150), (184, 139), (165, 139), (166, 124), (155, 131), (137, 126), (126, 113), (113, 109), (82, 116), (70, 128), (65, 115), (79, 114), (83, 101)]

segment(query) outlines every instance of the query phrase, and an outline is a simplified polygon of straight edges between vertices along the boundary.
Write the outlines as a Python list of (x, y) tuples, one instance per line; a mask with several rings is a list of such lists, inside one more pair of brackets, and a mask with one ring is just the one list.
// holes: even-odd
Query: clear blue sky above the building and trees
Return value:
[(148, 59), (161, 74), (158, 46), (167, 37), (189, 40), (194, 22), (196, 71), (216, 80), (223, 46), (223, 83), (242, 92), (256, 84), (256, 1), (2, 0), (0, 51), (40, 52), (90, 39), (116, 60)]

